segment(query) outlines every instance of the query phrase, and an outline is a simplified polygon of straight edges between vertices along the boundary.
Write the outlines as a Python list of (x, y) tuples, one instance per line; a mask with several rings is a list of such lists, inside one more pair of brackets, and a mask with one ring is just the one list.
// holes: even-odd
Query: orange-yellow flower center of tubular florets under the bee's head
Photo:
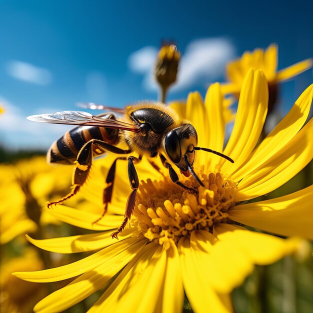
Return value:
[[(130, 221), (137, 227), (137, 235), (143, 234), (169, 248), (192, 230), (212, 232), (213, 224), (227, 222), (236, 184), (221, 173), (202, 174), (202, 182), (204, 187), (197, 187), (195, 193), (181, 192), (168, 177), (158, 182), (150, 179), (142, 182)], [(184, 184), (191, 187), (194, 182), (187, 179)]]

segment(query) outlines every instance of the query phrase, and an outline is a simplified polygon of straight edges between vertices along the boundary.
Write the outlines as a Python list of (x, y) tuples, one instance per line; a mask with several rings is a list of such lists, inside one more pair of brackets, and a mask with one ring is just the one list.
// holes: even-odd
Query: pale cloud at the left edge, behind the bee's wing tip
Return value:
[[(21, 109), (12, 105), (0, 96), (0, 106), (4, 112), (0, 114), (0, 143), (9, 149), (48, 149), (51, 143), (60, 137), (68, 125), (42, 124), (26, 119)], [(47, 109), (40, 113), (54, 112)]]

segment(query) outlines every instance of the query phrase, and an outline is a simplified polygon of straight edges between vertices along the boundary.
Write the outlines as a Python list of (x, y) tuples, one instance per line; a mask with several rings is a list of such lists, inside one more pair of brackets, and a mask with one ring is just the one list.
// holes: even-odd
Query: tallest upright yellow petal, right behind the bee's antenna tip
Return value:
[(244, 78), (233, 130), (223, 151), (234, 163), (220, 158), (221, 172), (230, 174), (250, 155), (261, 133), (268, 104), (268, 86), (260, 70), (250, 69)]

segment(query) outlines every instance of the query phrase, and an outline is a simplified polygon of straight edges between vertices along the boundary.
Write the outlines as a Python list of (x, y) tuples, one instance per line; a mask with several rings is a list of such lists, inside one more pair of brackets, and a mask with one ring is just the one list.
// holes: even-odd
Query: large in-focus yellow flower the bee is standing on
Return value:
[[(272, 263), (296, 251), (300, 242), (250, 231), (235, 221), (284, 236), (313, 238), (313, 186), (276, 199), (243, 203), (282, 185), (312, 159), (313, 120), (303, 126), (312, 95), (313, 85), (256, 146), (266, 116), (268, 89), (262, 71), (249, 70), (233, 131), (223, 149), (225, 123), (219, 84), (209, 87), (204, 103), (198, 93), (189, 94), (185, 116), (196, 127), (199, 146), (223, 150), (235, 162), (198, 151), (194, 170), (204, 187), (191, 194), (172, 183), (165, 171), (163, 176), (142, 161), (137, 166), (143, 181), (134, 213), (117, 241), (110, 233), (123, 219), (130, 191), (125, 162), (117, 166), (119, 184), (108, 214), (98, 223), (92, 225), (98, 217), (95, 213), (65, 205), (50, 210), (64, 222), (101, 232), (46, 240), (28, 238), (36, 246), (58, 253), (96, 250), (64, 266), (15, 273), (35, 282), (79, 275), (39, 301), (34, 310), (59, 312), (103, 288), (89, 313), (180, 312), (184, 292), (195, 312), (232, 311), (229, 294), (254, 264)], [(101, 201), (104, 179), (99, 173), (107, 172), (107, 164), (106, 159), (94, 162), (98, 178), (89, 183), (94, 203)], [(184, 183), (196, 186), (192, 178)]]

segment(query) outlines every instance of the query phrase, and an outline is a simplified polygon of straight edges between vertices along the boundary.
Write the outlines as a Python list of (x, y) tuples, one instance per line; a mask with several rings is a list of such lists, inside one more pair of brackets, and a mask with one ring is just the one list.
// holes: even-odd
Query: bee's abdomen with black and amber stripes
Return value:
[[(104, 117), (114, 118), (105, 115)], [(63, 136), (52, 143), (47, 153), (47, 161), (48, 163), (73, 164), (79, 150), (86, 142), (91, 139), (99, 139), (110, 144), (116, 144), (118, 131), (118, 129), (104, 127), (77, 126), (66, 131)], [(103, 151), (96, 148), (93, 150), (93, 154), (100, 155), (103, 154)]]

